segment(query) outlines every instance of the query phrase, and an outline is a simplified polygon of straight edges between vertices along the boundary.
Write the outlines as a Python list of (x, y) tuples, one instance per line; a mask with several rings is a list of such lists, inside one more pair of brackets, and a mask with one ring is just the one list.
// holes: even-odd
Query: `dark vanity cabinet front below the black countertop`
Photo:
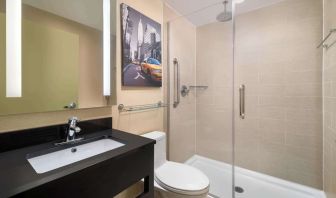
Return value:
[(143, 193), (138, 197), (152, 198), (153, 152), (153, 145), (130, 151), (14, 197), (112, 198), (144, 179)]

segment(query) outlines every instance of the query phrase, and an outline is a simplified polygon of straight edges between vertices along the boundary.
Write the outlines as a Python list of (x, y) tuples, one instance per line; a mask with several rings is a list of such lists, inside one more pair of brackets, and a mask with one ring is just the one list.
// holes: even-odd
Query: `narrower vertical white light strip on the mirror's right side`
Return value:
[(104, 68), (103, 68), (103, 82), (104, 82), (104, 96), (111, 95), (111, 5), (110, 0), (103, 0), (103, 48), (104, 48)]

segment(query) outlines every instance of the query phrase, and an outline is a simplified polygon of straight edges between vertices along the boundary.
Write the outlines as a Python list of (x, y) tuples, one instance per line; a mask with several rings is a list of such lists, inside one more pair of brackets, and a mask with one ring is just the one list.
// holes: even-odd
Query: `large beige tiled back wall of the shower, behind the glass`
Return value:
[[(229, 28), (197, 30), (197, 84), (209, 89), (197, 98), (196, 150), (226, 162), (232, 58), (222, 43), (231, 42)], [(322, 0), (287, 0), (237, 17), (236, 84), (246, 85), (247, 114), (240, 120), (235, 107), (238, 166), (322, 188), (321, 37)]]

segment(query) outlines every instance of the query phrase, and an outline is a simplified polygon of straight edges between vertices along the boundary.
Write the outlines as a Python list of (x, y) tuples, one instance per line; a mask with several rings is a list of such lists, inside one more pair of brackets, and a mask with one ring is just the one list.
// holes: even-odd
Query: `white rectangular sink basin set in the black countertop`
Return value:
[[(106, 138), (27, 159), (36, 173), (48, 171), (111, 151), (125, 144)], [(76, 151), (74, 151), (74, 149)]]

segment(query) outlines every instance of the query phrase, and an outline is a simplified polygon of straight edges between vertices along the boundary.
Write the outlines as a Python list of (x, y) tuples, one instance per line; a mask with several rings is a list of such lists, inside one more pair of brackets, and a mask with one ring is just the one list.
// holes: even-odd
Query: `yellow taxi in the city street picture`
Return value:
[(162, 67), (160, 61), (154, 58), (146, 58), (141, 63), (141, 71), (150, 77), (150, 80), (161, 82), (162, 80)]

